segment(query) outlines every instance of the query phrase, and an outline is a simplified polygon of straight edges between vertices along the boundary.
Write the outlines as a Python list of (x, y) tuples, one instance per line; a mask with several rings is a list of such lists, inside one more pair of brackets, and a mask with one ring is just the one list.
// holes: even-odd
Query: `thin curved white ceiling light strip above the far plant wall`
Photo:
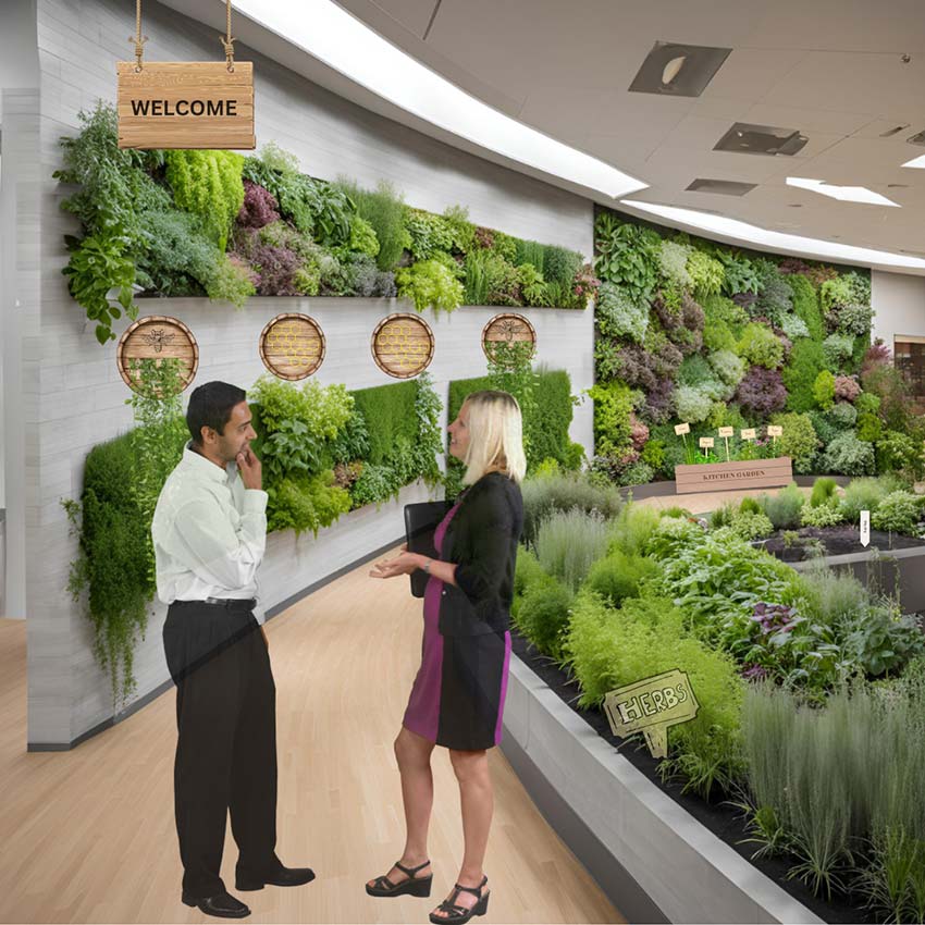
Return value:
[(874, 250), (869, 247), (855, 247), (850, 244), (834, 244), (816, 237), (785, 234), (784, 232), (762, 229), (757, 225), (730, 219), (727, 215), (710, 215), (695, 209), (681, 209), (677, 206), (659, 206), (655, 202), (642, 202), (638, 199), (621, 199), (621, 206), (639, 209), (653, 215), (688, 225), (691, 229), (710, 232), (737, 242), (748, 242), (770, 250), (797, 252), (811, 258), (838, 260), (843, 263), (875, 264), (925, 273), (925, 260), (904, 257), (887, 250)]

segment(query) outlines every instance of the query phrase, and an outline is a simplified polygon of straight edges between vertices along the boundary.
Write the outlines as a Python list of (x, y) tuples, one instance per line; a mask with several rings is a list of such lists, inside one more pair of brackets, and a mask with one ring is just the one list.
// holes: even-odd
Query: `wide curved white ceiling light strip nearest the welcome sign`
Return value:
[(648, 185), (476, 99), (332, 0), (237, 0), (235, 7), (382, 99), (504, 158), (614, 198)]

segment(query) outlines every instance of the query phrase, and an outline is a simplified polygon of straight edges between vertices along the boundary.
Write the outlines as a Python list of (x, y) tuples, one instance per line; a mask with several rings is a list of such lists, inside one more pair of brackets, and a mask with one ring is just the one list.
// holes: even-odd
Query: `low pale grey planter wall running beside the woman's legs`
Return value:
[(629, 922), (821, 923), (511, 658), (502, 751)]

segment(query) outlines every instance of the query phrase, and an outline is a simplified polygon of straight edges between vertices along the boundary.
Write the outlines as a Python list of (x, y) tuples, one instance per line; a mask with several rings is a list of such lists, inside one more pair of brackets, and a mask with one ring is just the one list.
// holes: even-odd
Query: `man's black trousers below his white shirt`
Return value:
[(252, 601), (177, 601), (168, 609), (164, 654), (176, 683), (174, 805), (183, 892), (221, 893), (225, 819), (237, 869), (275, 871), (276, 688)]

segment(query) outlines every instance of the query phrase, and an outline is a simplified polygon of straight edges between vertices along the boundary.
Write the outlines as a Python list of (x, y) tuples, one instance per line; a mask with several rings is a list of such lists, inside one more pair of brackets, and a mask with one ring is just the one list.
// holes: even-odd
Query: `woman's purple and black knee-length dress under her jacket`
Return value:
[[(434, 533), (437, 554), (454, 505)], [(437, 626), (443, 582), (433, 576), (424, 591), (421, 667), (403, 725), (437, 745), (460, 751), (490, 749), (501, 741), (510, 665), (510, 633), (441, 636)]]

